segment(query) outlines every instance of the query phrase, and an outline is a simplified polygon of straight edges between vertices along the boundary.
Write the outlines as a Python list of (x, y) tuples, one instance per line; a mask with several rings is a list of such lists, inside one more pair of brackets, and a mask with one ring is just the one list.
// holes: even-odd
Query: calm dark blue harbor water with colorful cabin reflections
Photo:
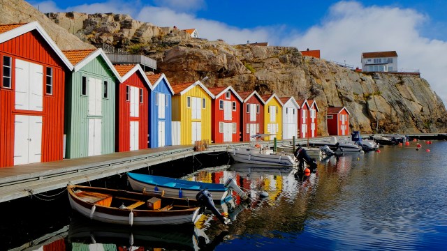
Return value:
[[(137, 250), (135, 246), (142, 247), (138, 250), (446, 250), (447, 142), (423, 144), (420, 151), (411, 144), (321, 160), (308, 177), (293, 170), (265, 172), (240, 166), (186, 175), (214, 183), (233, 177), (249, 189), (248, 203), (236, 198), (230, 205), (234, 221), (229, 226), (210, 215), (196, 227), (126, 229), (92, 224), (73, 215), (64, 196), (56, 207), (39, 202), (45, 208), (39, 223), (30, 216), (3, 216), (0, 240), (8, 249), (22, 246), (16, 250), (24, 250), (36, 233), (55, 236), (42, 238), (41, 243), (48, 240), (43, 250), (119, 250), (129, 247), (129, 238), (132, 250)], [(268, 197), (261, 198), (261, 191)], [(16, 224), (18, 229), (12, 226)]]

